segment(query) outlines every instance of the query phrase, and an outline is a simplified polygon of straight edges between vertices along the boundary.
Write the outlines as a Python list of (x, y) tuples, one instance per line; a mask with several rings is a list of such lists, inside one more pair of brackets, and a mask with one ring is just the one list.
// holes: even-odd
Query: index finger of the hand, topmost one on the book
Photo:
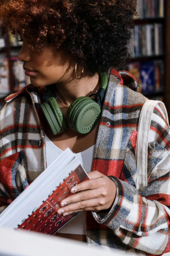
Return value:
[(78, 185), (71, 188), (71, 193), (77, 193), (84, 190), (97, 189), (101, 186), (105, 186), (106, 181), (102, 177), (96, 179), (90, 179), (79, 183)]

